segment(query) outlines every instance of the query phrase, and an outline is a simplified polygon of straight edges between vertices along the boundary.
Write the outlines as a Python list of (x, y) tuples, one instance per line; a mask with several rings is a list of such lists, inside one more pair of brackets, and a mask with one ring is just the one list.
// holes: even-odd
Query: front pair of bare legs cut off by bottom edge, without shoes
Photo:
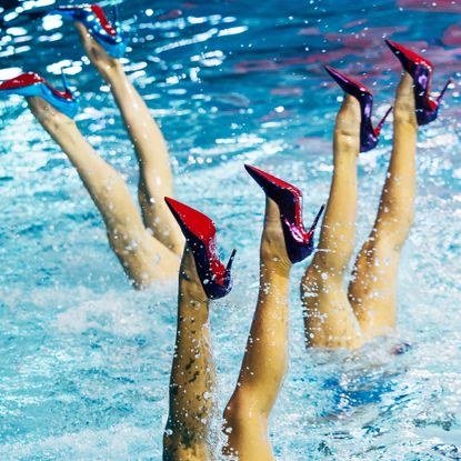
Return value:
[[(279, 207), (267, 199), (260, 249), (260, 290), (235, 390), (226, 407), (226, 454), (241, 461), (273, 460), (269, 414), (287, 368), (289, 260)], [(178, 330), (170, 381), (164, 461), (214, 460), (210, 443), (214, 370), (209, 309), (191, 251), (180, 268)]]

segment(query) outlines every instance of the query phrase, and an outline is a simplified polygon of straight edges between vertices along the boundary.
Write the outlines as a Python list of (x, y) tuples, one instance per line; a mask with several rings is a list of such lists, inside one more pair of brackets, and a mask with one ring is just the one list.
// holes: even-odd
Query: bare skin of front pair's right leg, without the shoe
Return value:
[(267, 199), (258, 305), (239, 380), (224, 411), (226, 454), (240, 461), (274, 460), (268, 425), (287, 369), (290, 269), (280, 211)]

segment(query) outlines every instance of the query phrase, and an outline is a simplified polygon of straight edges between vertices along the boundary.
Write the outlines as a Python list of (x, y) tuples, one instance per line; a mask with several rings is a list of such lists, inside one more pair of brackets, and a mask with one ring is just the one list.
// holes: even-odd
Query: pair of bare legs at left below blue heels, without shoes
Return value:
[(140, 167), (141, 214), (121, 176), (98, 156), (77, 124), (40, 98), (28, 98), (37, 120), (76, 167), (98, 207), (109, 243), (136, 287), (172, 278), (179, 268), (183, 238), (163, 198), (172, 196), (172, 174), (162, 133), (148, 107), (123, 72), (81, 24), (76, 24), (94, 68), (110, 86)]

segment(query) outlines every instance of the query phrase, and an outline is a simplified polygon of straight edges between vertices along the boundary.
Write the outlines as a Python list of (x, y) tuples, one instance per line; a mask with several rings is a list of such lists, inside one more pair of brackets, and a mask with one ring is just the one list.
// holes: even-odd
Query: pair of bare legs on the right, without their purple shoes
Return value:
[(308, 345), (357, 348), (395, 324), (397, 275), (413, 220), (418, 123), (405, 72), (395, 94), (393, 148), (373, 229), (345, 289), (354, 249), (359, 102), (345, 96), (334, 128), (334, 172), (319, 250), (301, 283)]

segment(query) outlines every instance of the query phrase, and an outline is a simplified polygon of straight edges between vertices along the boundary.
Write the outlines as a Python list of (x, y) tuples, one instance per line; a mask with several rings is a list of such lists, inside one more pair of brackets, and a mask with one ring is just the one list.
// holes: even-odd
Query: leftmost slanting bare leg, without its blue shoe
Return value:
[(104, 220), (110, 245), (138, 288), (173, 277), (179, 260), (152, 238), (120, 174), (99, 157), (76, 123), (40, 98), (28, 98), (32, 113), (76, 167)]

